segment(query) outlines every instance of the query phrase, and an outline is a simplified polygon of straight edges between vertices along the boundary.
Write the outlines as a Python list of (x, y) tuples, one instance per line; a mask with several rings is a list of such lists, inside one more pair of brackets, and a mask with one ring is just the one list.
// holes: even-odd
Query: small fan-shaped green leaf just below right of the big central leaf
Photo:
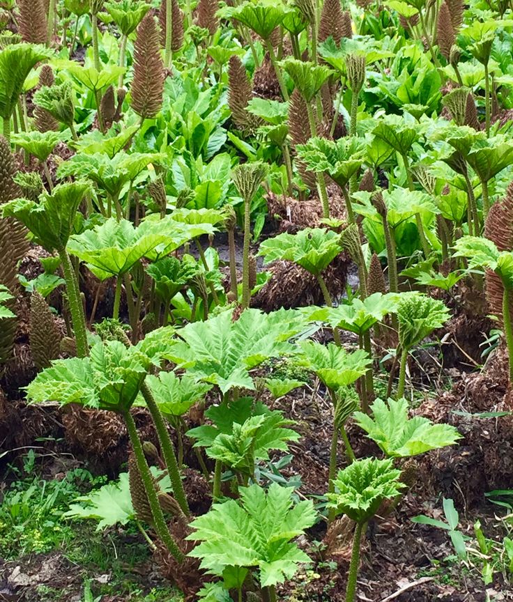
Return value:
[(300, 361), (333, 391), (353, 384), (367, 372), (371, 363), (369, 355), (362, 349), (348, 353), (334, 343), (322, 345), (315, 341), (301, 341), (299, 346)]

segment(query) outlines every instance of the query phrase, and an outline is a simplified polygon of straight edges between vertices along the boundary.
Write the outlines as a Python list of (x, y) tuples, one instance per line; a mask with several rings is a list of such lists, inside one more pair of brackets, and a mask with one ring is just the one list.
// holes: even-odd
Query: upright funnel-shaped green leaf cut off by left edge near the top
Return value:
[(31, 70), (53, 54), (52, 50), (33, 44), (11, 44), (0, 52), (0, 116), (3, 119), (13, 114)]

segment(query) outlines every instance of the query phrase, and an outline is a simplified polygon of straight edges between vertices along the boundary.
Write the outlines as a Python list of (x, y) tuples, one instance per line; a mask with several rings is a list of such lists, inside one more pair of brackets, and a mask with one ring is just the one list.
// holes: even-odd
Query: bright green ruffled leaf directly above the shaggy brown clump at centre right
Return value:
[(284, 232), (264, 240), (259, 249), (264, 263), (286, 259), (314, 275), (320, 275), (340, 252), (340, 236), (322, 228), (306, 228), (296, 234)]

